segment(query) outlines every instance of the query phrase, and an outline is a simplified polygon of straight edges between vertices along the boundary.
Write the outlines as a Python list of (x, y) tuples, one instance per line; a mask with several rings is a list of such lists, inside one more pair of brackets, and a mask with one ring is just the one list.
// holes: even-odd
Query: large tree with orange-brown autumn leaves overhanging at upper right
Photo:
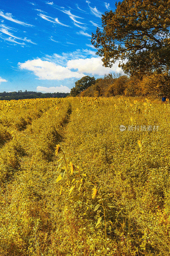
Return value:
[[(116, 60), (125, 73), (143, 74), (170, 69), (170, 0), (123, 0), (115, 12), (102, 15), (103, 31), (92, 33), (105, 67)], [(124, 63), (123, 63), (124, 61)]]

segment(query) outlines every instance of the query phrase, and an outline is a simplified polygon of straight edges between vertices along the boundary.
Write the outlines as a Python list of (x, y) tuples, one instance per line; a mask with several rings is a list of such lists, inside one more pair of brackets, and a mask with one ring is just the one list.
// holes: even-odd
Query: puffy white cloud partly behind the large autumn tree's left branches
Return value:
[(69, 60), (67, 62), (67, 68), (69, 69), (77, 69), (78, 72), (91, 74), (91, 75), (99, 75), (103, 76), (104, 74), (110, 73), (112, 71), (121, 72), (122, 69), (118, 67), (119, 61), (116, 61), (113, 64), (112, 68), (105, 68), (102, 66), (103, 62), (101, 57), (97, 58), (87, 58), (87, 59), (78, 59), (78, 60)]

